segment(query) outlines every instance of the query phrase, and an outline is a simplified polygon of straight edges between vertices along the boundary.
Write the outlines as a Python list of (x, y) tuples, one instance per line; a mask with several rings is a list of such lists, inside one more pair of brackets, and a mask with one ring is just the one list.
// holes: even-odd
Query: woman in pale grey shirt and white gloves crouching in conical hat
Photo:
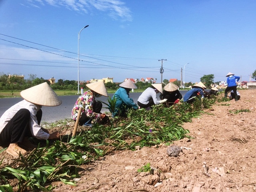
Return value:
[(159, 105), (167, 101), (167, 99), (157, 100), (157, 93), (163, 93), (162, 83), (152, 84), (145, 91), (142, 92), (138, 98), (138, 105), (140, 108), (150, 108), (152, 105)]

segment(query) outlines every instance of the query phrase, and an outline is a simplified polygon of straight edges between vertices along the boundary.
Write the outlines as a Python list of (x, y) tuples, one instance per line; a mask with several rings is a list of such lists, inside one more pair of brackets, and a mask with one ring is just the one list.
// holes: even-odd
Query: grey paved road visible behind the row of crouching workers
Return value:
[[(187, 91), (180, 91), (182, 94), (182, 97), (185, 95)], [(130, 97), (133, 99), (135, 103), (137, 103), (137, 100), (139, 98), (141, 93), (130, 93)], [(113, 96), (113, 94), (109, 94), (110, 97)], [(60, 96), (60, 99), (62, 101), (62, 104), (56, 107), (42, 107), (42, 122), (54, 122), (57, 120), (65, 119), (65, 118), (71, 118), (71, 110), (76, 102), (76, 99), (78, 98), (77, 95), (71, 95), (71, 96)], [(159, 94), (158, 94), (159, 98)], [(108, 103), (108, 98), (101, 96), (97, 98), (96, 100), (103, 101), (105, 103)], [(22, 98), (0, 98), (0, 116), (12, 105), (15, 103), (18, 103), (19, 101), (22, 101)], [(105, 104), (103, 104), (101, 112), (104, 113), (106, 111), (109, 111), (108, 109), (104, 108), (106, 107)]]

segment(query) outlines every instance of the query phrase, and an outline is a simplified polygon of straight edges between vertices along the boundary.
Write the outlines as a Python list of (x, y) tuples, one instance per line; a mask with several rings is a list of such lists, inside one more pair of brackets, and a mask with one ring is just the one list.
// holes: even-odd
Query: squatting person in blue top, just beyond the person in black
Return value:
[(199, 82), (195, 85), (192, 86), (192, 89), (189, 90), (183, 97), (183, 101), (185, 103), (192, 103), (195, 101), (195, 98), (197, 96), (201, 95), (201, 99), (203, 101), (204, 98), (204, 89), (206, 89), (206, 86), (202, 83)]

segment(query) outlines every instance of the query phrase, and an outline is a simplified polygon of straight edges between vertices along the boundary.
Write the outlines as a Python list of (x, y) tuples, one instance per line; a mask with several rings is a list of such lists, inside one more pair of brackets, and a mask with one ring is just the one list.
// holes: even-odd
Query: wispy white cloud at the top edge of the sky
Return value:
[(69, 10), (88, 13), (88, 10), (93, 11), (95, 8), (98, 11), (108, 12), (108, 15), (113, 19), (121, 19), (131, 21), (132, 15), (125, 3), (120, 0), (27, 0), (30, 6), (40, 7), (45, 4), (52, 6), (63, 6)]

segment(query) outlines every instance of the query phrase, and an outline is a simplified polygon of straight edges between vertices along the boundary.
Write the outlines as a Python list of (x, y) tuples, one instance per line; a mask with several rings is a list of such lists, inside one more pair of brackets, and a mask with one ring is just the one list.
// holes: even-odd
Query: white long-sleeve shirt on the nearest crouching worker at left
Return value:
[(0, 133), (18, 110), (28, 109), (30, 111), (29, 128), (32, 135), (37, 139), (48, 139), (50, 134), (41, 129), (41, 126), (38, 125), (37, 117), (35, 116), (40, 108), (41, 106), (30, 103), (26, 100), (22, 100), (11, 106), (11, 108), (7, 109), (0, 118)]

